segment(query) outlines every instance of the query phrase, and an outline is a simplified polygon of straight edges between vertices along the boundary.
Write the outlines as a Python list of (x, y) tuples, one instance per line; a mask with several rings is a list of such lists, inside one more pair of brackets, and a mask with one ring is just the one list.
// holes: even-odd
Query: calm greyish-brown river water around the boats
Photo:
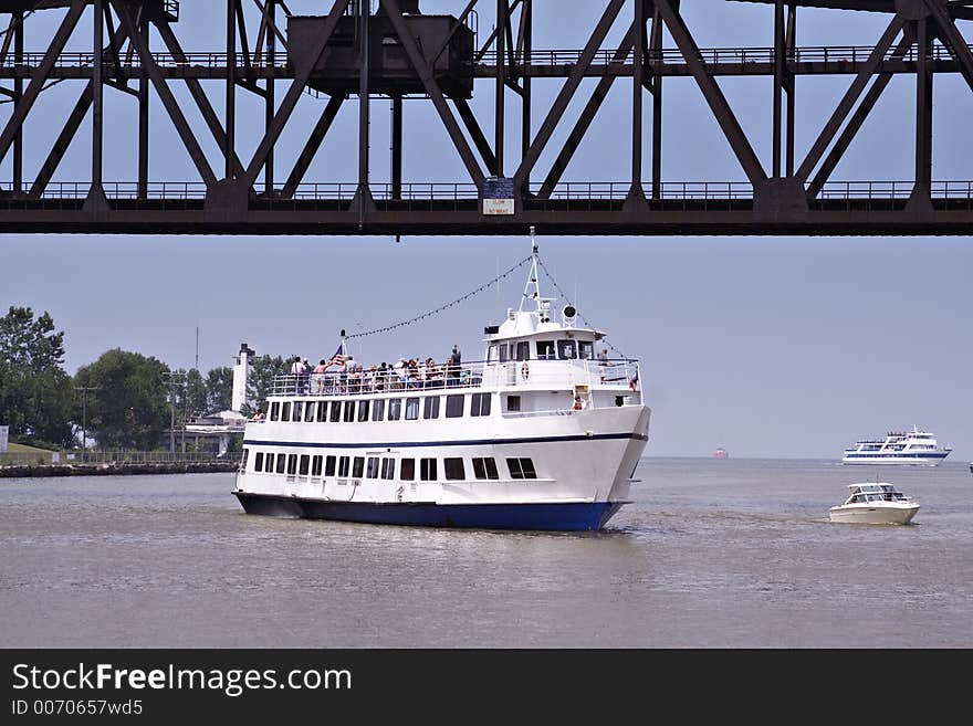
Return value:
[(971, 648), (973, 474), (644, 459), (590, 534), (244, 515), (232, 474), (0, 480), (4, 648)]

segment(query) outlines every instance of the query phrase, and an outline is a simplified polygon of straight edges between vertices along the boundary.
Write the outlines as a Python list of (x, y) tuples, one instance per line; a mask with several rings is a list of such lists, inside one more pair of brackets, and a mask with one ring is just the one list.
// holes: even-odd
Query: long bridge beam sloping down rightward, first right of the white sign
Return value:
[(723, 130), (723, 135), (726, 137), (726, 140), (730, 141), (730, 148), (736, 155), (736, 159), (740, 161), (740, 166), (743, 167), (743, 171), (746, 173), (747, 179), (750, 179), (751, 183), (756, 187), (767, 178), (767, 173), (761, 166), (760, 159), (757, 159), (753, 147), (750, 145), (750, 140), (746, 138), (746, 134), (743, 133), (740, 122), (736, 120), (736, 116), (733, 115), (733, 111), (730, 108), (726, 97), (716, 84), (716, 80), (707, 70), (707, 65), (700, 55), (699, 46), (695, 44), (689, 29), (686, 27), (682, 15), (672, 10), (670, 2), (671, 0), (656, 0), (656, 8), (658, 8), (662, 21), (669, 29), (672, 40), (674, 40), (676, 45), (679, 46), (679, 51), (682, 53), (682, 57), (686, 60), (689, 70), (692, 72), (697, 85), (700, 87), (700, 91), (702, 91), (703, 97), (710, 106), (710, 111), (713, 112), (716, 123)]

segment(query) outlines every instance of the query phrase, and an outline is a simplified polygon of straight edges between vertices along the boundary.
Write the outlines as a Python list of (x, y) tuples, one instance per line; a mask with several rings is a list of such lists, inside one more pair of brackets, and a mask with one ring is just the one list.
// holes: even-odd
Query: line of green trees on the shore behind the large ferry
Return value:
[[(273, 377), (287, 372), (293, 356), (250, 361), (247, 400), (266, 409)], [(230, 409), (233, 369), (172, 369), (139, 353), (114, 348), (79, 368), (63, 368), (64, 332), (44, 312), (11, 306), (0, 317), (0, 425), (10, 440), (48, 448), (81, 445), (82, 431), (101, 449), (159, 448), (172, 419)], [(251, 413), (250, 406), (243, 414)]]

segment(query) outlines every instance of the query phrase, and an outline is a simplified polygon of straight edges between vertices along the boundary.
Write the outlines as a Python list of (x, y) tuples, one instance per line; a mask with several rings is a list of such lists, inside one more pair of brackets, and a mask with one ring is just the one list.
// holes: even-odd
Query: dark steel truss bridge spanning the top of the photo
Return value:
[[(533, 48), (533, 0), (459, 1), (454, 15), (423, 15), (419, 0), (322, 0), (316, 17), (292, 14), (285, 0), (226, 0), (226, 46), (200, 53), (186, 52), (179, 41), (175, 0), (0, 0), (0, 13), (9, 14), (0, 39), (0, 101), (9, 109), (0, 160), (12, 157), (11, 176), (0, 181), (0, 232), (522, 234), (533, 225), (543, 234), (600, 235), (973, 233), (973, 181), (932, 175), (933, 80), (938, 73), (959, 73), (973, 90), (973, 52), (956, 22), (973, 20), (973, 1), (731, 1), (768, 6), (772, 44), (699, 48), (679, 0), (604, 0), (580, 50)], [(376, 4), (374, 13), (369, 4)], [(478, 4), (489, 6), (498, 20), (485, 38), (473, 23)], [(805, 7), (881, 13), (888, 23), (871, 45), (801, 46), (797, 15)], [(60, 11), (60, 24), (45, 39), (46, 49), (25, 51), (25, 39), (36, 40), (31, 23), (52, 11)], [(85, 13), (92, 19), (92, 52), (66, 52)], [(605, 49), (616, 23), (627, 30), (617, 46)], [(674, 48), (663, 46), (663, 29)], [(153, 40), (163, 46), (153, 48)], [(838, 74), (850, 76), (850, 85), (798, 157), (795, 80)], [(916, 78), (913, 178), (833, 180), (896, 74)], [(663, 80), (673, 76), (698, 85), (746, 181), (662, 178), (663, 151), (679, 151), (663, 145), (662, 133)], [(721, 76), (773, 77), (770, 168), (721, 91)], [(589, 77), (598, 81), (589, 84), (594, 88), (569, 123), (565, 111)], [(532, 96), (533, 78), (563, 81), (554, 99), (542, 105)], [(213, 80), (224, 82), (222, 114), (201, 84)], [(64, 109), (62, 129), (45, 147), (44, 161), (28, 176), (24, 128), (41, 92), (63, 81), (72, 81), (80, 93)], [(484, 82), (495, 94), (492, 118), (474, 113), (469, 103)], [(631, 88), (630, 139), (618, 139), (630, 146), (630, 169), (615, 182), (563, 180), (615, 83)], [(187, 119), (175, 84), (185, 84), (202, 127)], [(137, 105), (137, 178), (132, 180), (103, 178), (105, 86), (130, 95)], [(238, 150), (243, 146), (237, 139), (238, 93), (263, 99), (262, 136), (250, 158)], [(296, 161), (279, 173), (274, 149), (307, 93), (326, 102), (311, 134), (301, 139)], [(358, 149), (357, 179), (305, 180), (344, 103), (376, 96), (391, 99), (390, 181), (369, 178), (368, 103), (357, 104), (357, 136), (344, 139)], [(402, 146), (409, 140), (402, 128), (404, 98), (432, 104), (449, 139), (442, 152), (458, 155), (464, 178), (402, 180)], [(508, 98), (521, 109), (521, 143), (511, 150), (504, 148)], [(161, 104), (197, 178), (151, 178), (150, 101)], [(651, 103), (644, 108), (646, 101)], [(88, 116), (90, 181), (55, 181)], [(154, 117), (153, 128), (158, 123), (163, 119)], [(651, 130), (651, 162), (645, 169), (644, 129)], [(201, 135), (216, 141), (221, 168), (211, 166)], [(564, 139), (559, 152), (542, 168), (538, 160), (555, 137)], [(33, 135), (29, 139), (39, 143)]]

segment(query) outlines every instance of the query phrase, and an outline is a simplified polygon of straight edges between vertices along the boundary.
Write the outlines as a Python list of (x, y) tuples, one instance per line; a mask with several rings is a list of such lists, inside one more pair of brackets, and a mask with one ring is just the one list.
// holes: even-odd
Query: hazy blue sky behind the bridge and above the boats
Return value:
[[(289, 3), (297, 13), (322, 2)], [(329, 4), (329, 3), (327, 3)], [(426, 12), (463, 2), (423, 2)], [(481, 38), (492, 19), (485, 2)], [(598, 2), (536, 2), (535, 48), (582, 48), (600, 13)], [(564, 8), (571, 6), (571, 12)], [(773, 10), (747, 3), (686, 1), (687, 23), (699, 44), (772, 42)], [(248, 13), (253, 11), (248, 6)], [(320, 11), (320, 10), (317, 10)], [(222, 2), (182, 2), (177, 27), (185, 50), (218, 51)], [(622, 11), (606, 46), (617, 42), (631, 9)], [(28, 50), (43, 50), (43, 28), (61, 11), (29, 23)], [(253, 17), (253, 15), (251, 15)], [(50, 20), (49, 20), (50, 19)], [(565, 20), (568, 19), (568, 20)], [(34, 15), (31, 21), (38, 20)], [(888, 17), (802, 11), (801, 45), (873, 44)], [(961, 25), (967, 39), (973, 23)], [(253, 25), (255, 27), (255, 25)], [(213, 31), (213, 29), (216, 29)], [(50, 31), (49, 31), (50, 33)], [(33, 40), (33, 39), (36, 40)], [(69, 48), (90, 49), (90, 24)], [(671, 44), (671, 42), (670, 42)], [(158, 43), (156, 48), (158, 48)], [(840, 98), (851, 76), (798, 78), (798, 156)], [(562, 80), (535, 81), (535, 127)], [(593, 81), (568, 111), (573, 119)], [(720, 80), (765, 166), (770, 165), (771, 83)], [(178, 86), (174, 87), (178, 88)], [(222, 106), (222, 86), (206, 86)], [(279, 97), (285, 85), (279, 85)], [(35, 173), (50, 140), (80, 93), (65, 82), (42, 94), (30, 117), (25, 176)], [(548, 94), (544, 97), (542, 94)], [(105, 179), (136, 178), (135, 104), (106, 88)], [(188, 96), (184, 108), (196, 120)], [(565, 180), (621, 181), (629, 173), (630, 83), (613, 88)], [(744, 176), (690, 78), (667, 81), (663, 178), (743, 180)], [(259, 140), (260, 106), (239, 93), (240, 155)], [(278, 151), (285, 178), (303, 136), (324, 101), (302, 97)], [(937, 76), (937, 180), (973, 178), (969, 119), (973, 93), (959, 76)], [(646, 96), (646, 118), (651, 99)], [(492, 119), (492, 85), (477, 86), (474, 108), (484, 128)], [(511, 116), (508, 164), (519, 148), (520, 104)], [(388, 179), (388, 103), (373, 102), (372, 176)], [(6, 120), (11, 106), (0, 106)], [(249, 113), (252, 111), (252, 113)], [(912, 178), (914, 78), (889, 85), (835, 180)], [(188, 155), (160, 105), (153, 114), (153, 180), (196, 180)], [(195, 123), (211, 165), (219, 150)], [(569, 127), (569, 126), (567, 126)], [(306, 181), (357, 177), (357, 103), (343, 108)], [(647, 141), (650, 127), (647, 126)], [(488, 130), (488, 134), (491, 131)], [(408, 181), (465, 181), (465, 172), (427, 102), (406, 105)], [(36, 144), (32, 141), (36, 140)], [(552, 139), (538, 169), (556, 155)], [(646, 144), (645, 169), (650, 169)], [(90, 178), (87, 122), (57, 180)], [(10, 155), (0, 167), (10, 178)], [(642, 361), (647, 402), (653, 409), (648, 454), (834, 459), (857, 438), (913, 423), (954, 446), (951, 461), (973, 459), (971, 371), (973, 240), (970, 238), (538, 238), (542, 256), (590, 323), (609, 333), (627, 356)], [(526, 256), (521, 238), (216, 238), (123, 235), (0, 235), (0, 305), (48, 311), (66, 332), (66, 367), (74, 372), (109, 348), (153, 355), (172, 367), (230, 365), (241, 341), (259, 354), (318, 358), (334, 351), (342, 327), (381, 327), (438, 307), (479, 287)], [(441, 358), (459, 343), (479, 358), (483, 326), (519, 304), (525, 271), (447, 314), (394, 335), (355, 341), (367, 361), (400, 355)]]

